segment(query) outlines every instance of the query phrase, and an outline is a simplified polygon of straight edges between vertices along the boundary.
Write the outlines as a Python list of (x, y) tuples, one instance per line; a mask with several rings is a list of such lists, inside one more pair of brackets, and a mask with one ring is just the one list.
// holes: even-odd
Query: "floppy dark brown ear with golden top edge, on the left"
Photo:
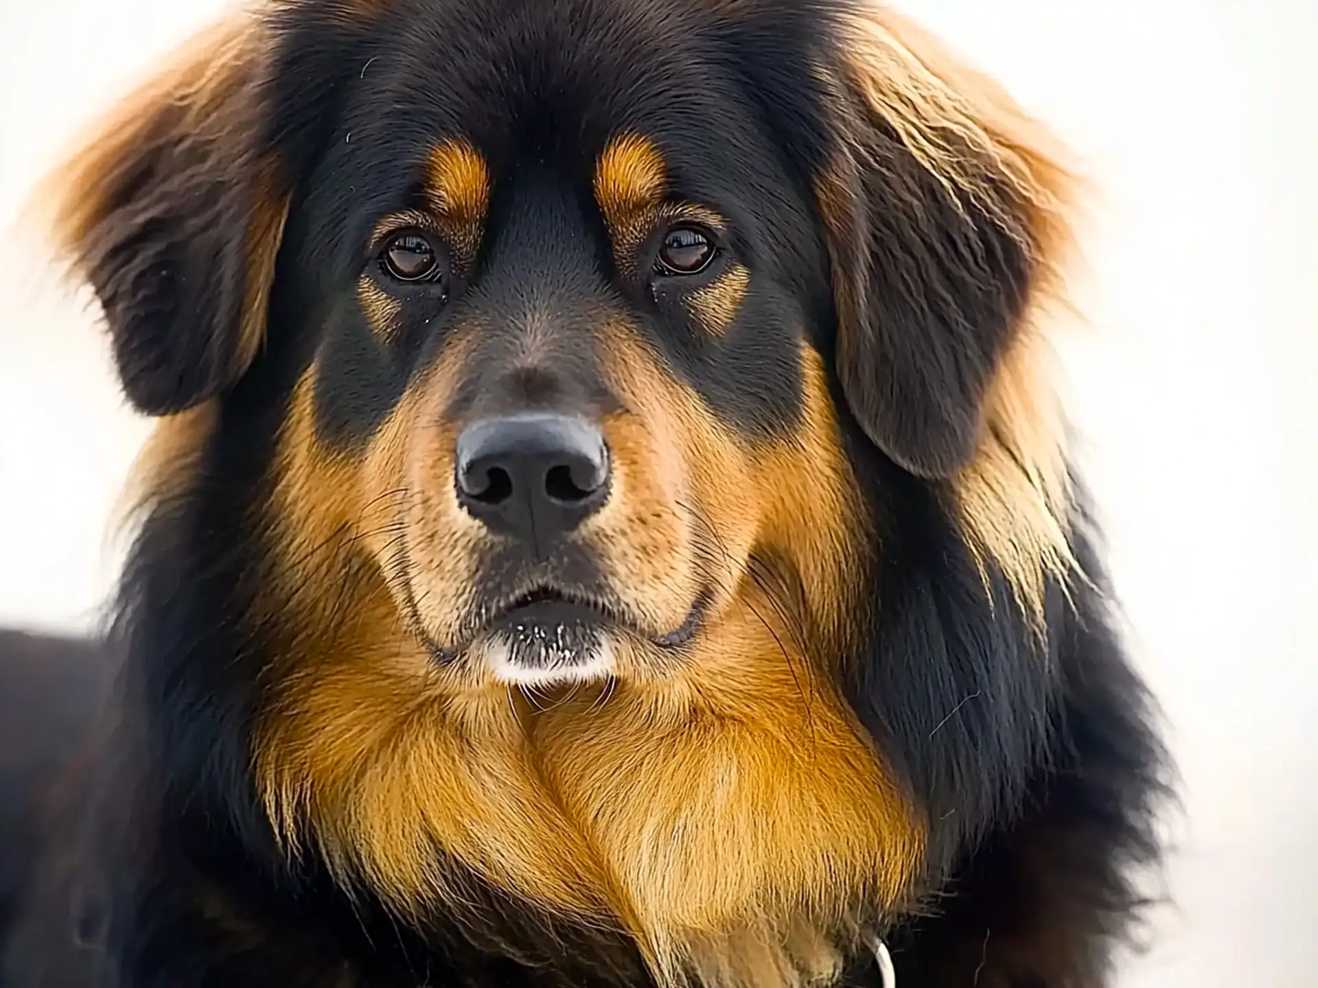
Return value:
[(194, 37), (43, 190), (124, 391), (150, 415), (233, 385), (265, 332), (287, 199), (261, 153), (260, 38), (245, 17)]

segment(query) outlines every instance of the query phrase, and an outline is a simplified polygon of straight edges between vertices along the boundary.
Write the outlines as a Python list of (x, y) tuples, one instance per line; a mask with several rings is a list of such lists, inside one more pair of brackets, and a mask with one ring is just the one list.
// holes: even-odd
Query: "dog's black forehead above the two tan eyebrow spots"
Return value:
[[(758, 65), (811, 88), (809, 34), (717, 4), (656, 0), (397, 3), (361, 28), (340, 66), (335, 158), (387, 175), (460, 138), (496, 182), (529, 163), (589, 180), (618, 134), (662, 149), (670, 182), (741, 190), (780, 177)], [(314, 49), (314, 41), (302, 41)], [(793, 74), (799, 79), (791, 79)], [(297, 59), (289, 87), (304, 86)], [(808, 116), (808, 112), (803, 116)], [(353, 154), (353, 151), (357, 151)], [(713, 190), (717, 191), (717, 190)]]

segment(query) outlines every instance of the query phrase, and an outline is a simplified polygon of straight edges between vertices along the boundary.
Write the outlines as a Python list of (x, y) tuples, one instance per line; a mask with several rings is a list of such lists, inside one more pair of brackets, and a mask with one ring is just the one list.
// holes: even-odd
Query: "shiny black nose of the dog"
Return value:
[(457, 499), (489, 528), (536, 551), (609, 497), (609, 451), (597, 425), (568, 415), (474, 422), (457, 437)]

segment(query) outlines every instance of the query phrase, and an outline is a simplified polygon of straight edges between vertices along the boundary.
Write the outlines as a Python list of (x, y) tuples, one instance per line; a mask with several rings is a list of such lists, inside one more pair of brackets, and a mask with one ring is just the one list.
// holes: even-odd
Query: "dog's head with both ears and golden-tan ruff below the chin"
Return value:
[(1027, 619), (1066, 555), (1069, 179), (998, 88), (859, 0), (289, 0), (62, 180), (154, 494), (244, 506), (290, 850), (409, 914), (457, 859), (660, 968), (826, 968), (917, 891), (841, 685), (924, 524), (884, 487)]

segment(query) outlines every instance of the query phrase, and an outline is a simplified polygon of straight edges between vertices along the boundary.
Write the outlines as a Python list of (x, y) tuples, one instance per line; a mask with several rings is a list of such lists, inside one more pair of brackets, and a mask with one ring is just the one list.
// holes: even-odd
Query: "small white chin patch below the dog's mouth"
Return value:
[(518, 627), (489, 640), (484, 652), (494, 678), (518, 686), (600, 682), (613, 676), (609, 638), (575, 626)]

